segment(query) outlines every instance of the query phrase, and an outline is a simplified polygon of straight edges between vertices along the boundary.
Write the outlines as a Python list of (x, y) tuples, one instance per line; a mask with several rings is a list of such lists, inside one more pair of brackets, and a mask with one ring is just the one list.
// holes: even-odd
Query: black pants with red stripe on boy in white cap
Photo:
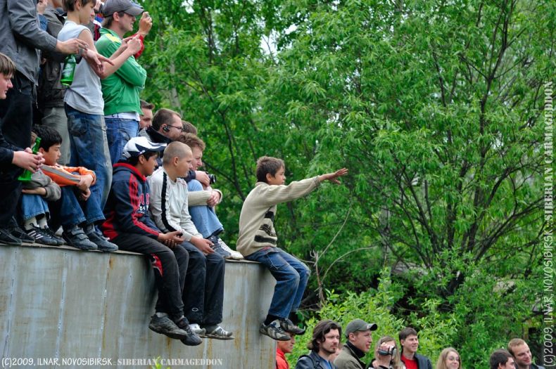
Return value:
[(156, 311), (177, 319), (184, 315), (182, 291), (187, 273), (189, 254), (181, 247), (170, 249), (146, 235), (122, 233), (111, 240), (120, 250), (139, 252), (151, 260), (158, 288)]

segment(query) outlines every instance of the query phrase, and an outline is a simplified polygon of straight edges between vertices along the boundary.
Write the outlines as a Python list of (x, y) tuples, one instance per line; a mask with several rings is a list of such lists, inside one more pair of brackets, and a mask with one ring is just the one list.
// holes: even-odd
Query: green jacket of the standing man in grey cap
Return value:
[[(101, 38), (96, 41), (96, 51), (107, 58), (120, 47), (122, 40), (112, 30), (101, 28)], [(113, 75), (101, 80), (104, 115), (118, 112), (141, 112), (139, 92), (145, 88), (146, 71), (133, 56)]]

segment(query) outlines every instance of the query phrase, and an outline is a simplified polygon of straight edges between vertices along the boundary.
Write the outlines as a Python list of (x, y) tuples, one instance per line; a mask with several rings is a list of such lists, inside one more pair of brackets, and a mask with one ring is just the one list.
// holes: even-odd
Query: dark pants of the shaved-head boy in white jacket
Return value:
[(215, 325), (222, 322), (225, 261), (217, 254), (205, 256), (190, 242), (182, 243), (189, 252), (184, 287), (184, 313), (190, 323)]

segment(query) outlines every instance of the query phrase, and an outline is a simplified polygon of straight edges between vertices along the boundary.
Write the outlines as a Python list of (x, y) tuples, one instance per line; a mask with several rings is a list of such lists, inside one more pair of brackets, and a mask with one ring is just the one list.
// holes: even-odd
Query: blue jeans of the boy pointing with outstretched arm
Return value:
[(268, 313), (288, 318), (292, 311), (297, 311), (309, 279), (309, 268), (278, 247), (267, 247), (246, 256), (245, 259), (263, 264), (276, 278)]

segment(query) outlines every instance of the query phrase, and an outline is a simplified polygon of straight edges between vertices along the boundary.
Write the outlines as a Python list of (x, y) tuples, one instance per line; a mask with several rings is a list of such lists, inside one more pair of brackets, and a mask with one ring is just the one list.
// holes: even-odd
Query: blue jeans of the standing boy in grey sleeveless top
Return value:
[[(65, 105), (70, 131), (70, 166), (85, 167), (94, 171), (96, 183), (91, 186), (91, 197), (101, 209), (106, 204), (112, 183), (112, 164), (106, 141), (106, 125), (103, 115), (87, 114)], [(90, 199), (89, 199), (90, 200)]]

